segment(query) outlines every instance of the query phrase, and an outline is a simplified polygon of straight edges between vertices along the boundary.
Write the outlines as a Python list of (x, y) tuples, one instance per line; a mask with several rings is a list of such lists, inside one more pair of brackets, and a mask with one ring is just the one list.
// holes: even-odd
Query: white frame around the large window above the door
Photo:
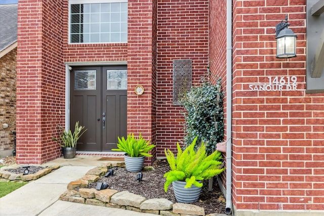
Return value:
[(75, 4), (103, 4), (103, 3), (128, 3), (128, 0), (69, 0), (68, 2), (68, 44), (124, 44), (127, 41), (119, 42), (71, 42), (71, 5)]

